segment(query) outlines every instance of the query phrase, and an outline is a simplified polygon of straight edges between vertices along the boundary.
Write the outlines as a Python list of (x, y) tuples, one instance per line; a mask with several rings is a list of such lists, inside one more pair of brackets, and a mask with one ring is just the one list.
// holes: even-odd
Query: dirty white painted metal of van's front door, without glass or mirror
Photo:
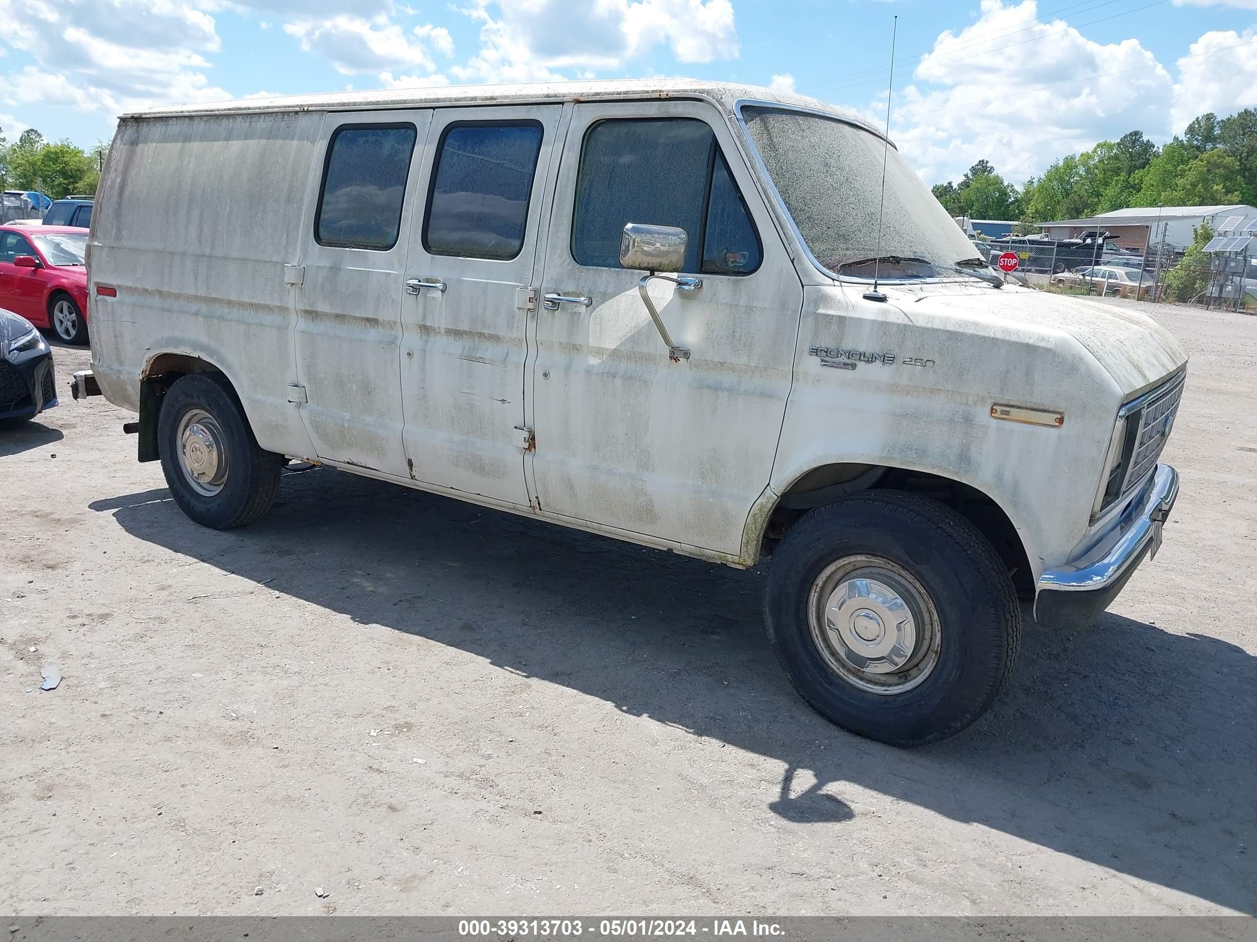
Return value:
[(737, 154), (719, 112), (700, 102), (576, 106), (542, 290), (593, 304), (537, 315), (533, 486), (544, 515), (737, 556), (777, 448), (802, 285), (754, 180), (737, 167), (763, 236), (763, 263), (749, 275), (703, 274), (696, 291), (651, 283), (672, 340), (691, 350), (689, 360), (669, 359), (637, 293), (641, 273), (578, 265), (568, 247), (585, 132), (602, 119), (639, 117), (710, 122), (720, 149)]

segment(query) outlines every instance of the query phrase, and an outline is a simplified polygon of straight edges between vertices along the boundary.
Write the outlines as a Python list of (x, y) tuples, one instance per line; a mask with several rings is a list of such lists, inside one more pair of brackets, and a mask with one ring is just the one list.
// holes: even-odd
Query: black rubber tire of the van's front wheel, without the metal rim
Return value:
[[(933, 667), (914, 668), (924, 678), (903, 692), (870, 692), (857, 686), (861, 678), (847, 679), (813, 634), (813, 584), (857, 556), (892, 564), (905, 584), (924, 590), (929, 610), (918, 620), (933, 618), (936, 654), (914, 654)], [(950, 507), (897, 491), (854, 495), (791, 528), (773, 554), (764, 619), (803, 700), (831, 722), (895, 746), (936, 742), (982, 716), (1008, 686), (1022, 629), (1017, 593), (991, 543)]]

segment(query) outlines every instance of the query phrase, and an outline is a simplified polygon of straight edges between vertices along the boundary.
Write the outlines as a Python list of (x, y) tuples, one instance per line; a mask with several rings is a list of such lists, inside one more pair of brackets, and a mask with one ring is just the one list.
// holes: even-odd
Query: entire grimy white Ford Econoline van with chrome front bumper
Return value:
[(886, 742), (991, 706), (1018, 597), (1092, 620), (1178, 491), (1158, 463), (1174, 338), (1002, 285), (877, 128), (793, 94), (569, 83), (127, 116), (88, 264), (93, 377), (192, 520), (256, 520), (295, 457), (734, 566), (772, 555), (794, 686)]

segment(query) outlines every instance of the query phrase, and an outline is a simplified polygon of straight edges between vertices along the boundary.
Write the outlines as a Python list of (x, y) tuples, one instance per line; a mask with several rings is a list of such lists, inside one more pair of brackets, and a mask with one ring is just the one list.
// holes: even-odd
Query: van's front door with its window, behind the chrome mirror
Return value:
[[(644, 273), (620, 266), (627, 222), (689, 236), (683, 274), (701, 286), (649, 288), (689, 359), (669, 357), (639, 295)], [(714, 107), (577, 103), (529, 379), (539, 512), (738, 556), (772, 472), (802, 301)]]

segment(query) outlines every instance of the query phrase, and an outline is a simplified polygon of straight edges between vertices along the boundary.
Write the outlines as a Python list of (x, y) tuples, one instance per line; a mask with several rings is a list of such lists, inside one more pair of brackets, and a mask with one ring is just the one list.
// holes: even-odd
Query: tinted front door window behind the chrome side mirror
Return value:
[(622, 118), (590, 128), (572, 224), (579, 265), (620, 268), (628, 222), (680, 226), (684, 271), (749, 275), (763, 247), (711, 128), (695, 118)]

